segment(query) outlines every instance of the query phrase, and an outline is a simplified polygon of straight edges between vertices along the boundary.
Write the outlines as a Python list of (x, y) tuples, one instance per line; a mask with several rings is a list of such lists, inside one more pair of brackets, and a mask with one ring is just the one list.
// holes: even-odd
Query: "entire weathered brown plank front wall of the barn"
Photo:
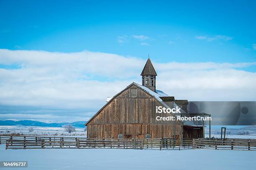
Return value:
[[(156, 116), (171, 116), (156, 113), (161, 103), (135, 85), (124, 90), (101, 110), (88, 124), (89, 138), (118, 138), (118, 134), (150, 134), (151, 138), (172, 138), (174, 121), (157, 121)], [(181, 122), (176, 121), (175, 134), (181, 134)]]

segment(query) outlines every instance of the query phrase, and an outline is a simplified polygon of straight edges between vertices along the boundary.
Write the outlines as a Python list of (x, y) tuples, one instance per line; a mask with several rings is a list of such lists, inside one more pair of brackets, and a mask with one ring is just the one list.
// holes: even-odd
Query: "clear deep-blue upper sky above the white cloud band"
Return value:
[(144, 59), (150, 53), (157, 62), (256, 61), (255, 1), (2, 0), (0, 7), (5, 49), (90, 50)]

